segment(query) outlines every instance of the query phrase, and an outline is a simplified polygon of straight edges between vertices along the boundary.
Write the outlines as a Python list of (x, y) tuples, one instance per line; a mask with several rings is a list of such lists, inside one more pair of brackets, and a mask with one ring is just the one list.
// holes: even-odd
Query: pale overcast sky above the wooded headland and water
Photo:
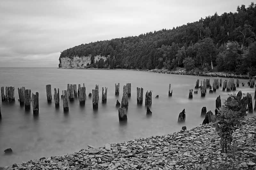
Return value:
[(58, 67), (60, 52), (236, 12), (252, 0), (1, 0), (0, 67)]

